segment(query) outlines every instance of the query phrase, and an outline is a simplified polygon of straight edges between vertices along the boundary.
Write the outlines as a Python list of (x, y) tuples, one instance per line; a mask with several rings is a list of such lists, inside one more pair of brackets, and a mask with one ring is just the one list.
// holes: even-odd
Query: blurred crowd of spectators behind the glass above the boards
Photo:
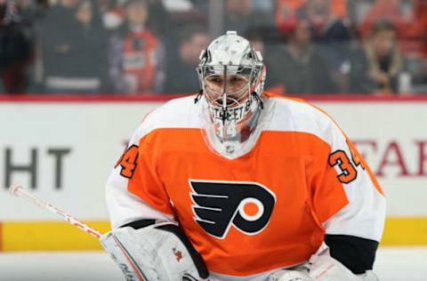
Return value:
[(0, 94), (198, 92), (225, 30), (273, 92), (427, 93), (427, 0), (0, 0)]

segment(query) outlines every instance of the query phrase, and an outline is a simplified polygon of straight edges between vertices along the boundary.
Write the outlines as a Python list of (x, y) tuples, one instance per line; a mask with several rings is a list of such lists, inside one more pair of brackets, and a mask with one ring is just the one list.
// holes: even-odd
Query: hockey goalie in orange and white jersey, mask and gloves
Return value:
[(197, 75), (197, 96), (149, 113), (109, 176), (101, 243), (125, 277), (377, 280), (383, 189), (334, 120), (264, 92), (262, 54), (233, 31)]

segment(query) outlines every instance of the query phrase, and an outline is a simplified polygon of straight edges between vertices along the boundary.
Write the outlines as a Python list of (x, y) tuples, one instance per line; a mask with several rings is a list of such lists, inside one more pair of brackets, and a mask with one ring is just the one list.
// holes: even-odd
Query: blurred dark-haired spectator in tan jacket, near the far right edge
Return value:
[(378, 20), (367, 41), (350, 62), (350, 92), (398, 92), (404, 63), (397, 45), (397, 30), (389, 20)]

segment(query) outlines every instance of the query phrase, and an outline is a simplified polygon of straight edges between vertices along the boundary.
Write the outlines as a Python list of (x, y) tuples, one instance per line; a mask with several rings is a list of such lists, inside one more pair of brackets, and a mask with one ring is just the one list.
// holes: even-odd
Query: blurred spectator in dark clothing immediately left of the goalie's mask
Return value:
[(194, 93), (200, 90), (197, 77), (197, 64), (200, 51), (209, 43), (205, 28), (190, 25), (184, 27), (178, 36), (178, 53), (168, 64), (165, 92)]

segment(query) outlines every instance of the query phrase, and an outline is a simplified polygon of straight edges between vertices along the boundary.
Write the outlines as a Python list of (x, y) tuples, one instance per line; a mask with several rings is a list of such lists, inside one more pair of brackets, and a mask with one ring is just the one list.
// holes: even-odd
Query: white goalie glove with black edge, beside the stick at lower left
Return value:
[(205, 262), (173, 223), (113, 229), (100, 241), (126, 280), (208, 280)]

